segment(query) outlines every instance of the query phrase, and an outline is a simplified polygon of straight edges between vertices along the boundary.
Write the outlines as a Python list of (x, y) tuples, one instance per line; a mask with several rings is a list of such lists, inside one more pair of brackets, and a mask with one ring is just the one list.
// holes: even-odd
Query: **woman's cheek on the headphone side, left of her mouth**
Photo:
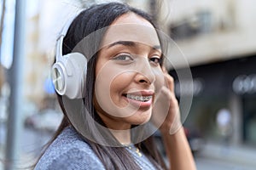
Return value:
[(96, 78), (95, 103), (98, 104), (98, 111), (116, 117), (131, 116), (137, 111), (122, 97), (131, 88), (132, 75), (122, 73), (113, 78)]

